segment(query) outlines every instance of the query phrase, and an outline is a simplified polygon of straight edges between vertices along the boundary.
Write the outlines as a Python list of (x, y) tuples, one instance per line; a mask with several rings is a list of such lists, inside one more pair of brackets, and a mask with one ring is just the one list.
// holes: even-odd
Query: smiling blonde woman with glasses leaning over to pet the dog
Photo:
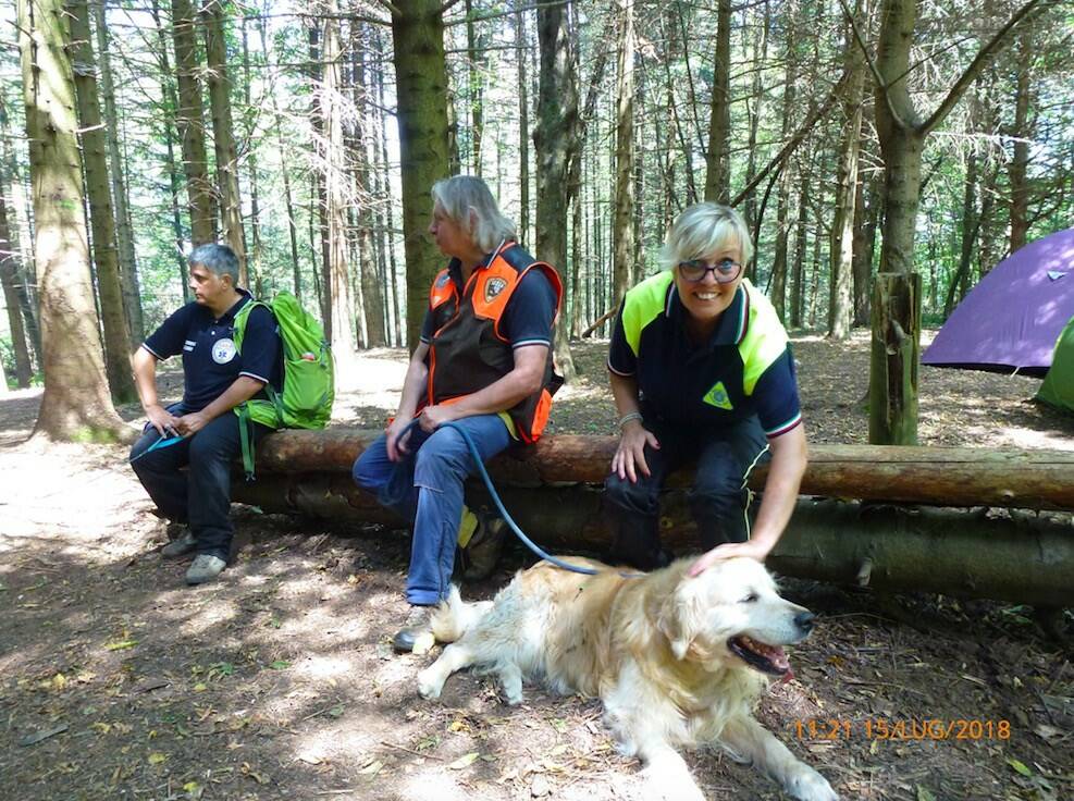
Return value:
[[(733, 209), (686, 209), (668, 232), (664, 272), (627, 293), (608, 353), (619, 446), (605, 482), (615, 527), (613, 558), (649, 570), (661, 546), (659, 491), (696, 461), (690, 510), (719, 558), (763, 560), (790, 520), (806, 443), (787, 332), (743, 276), (750, 234)], [(750, 470), (771, 455), (752, 537)]]

